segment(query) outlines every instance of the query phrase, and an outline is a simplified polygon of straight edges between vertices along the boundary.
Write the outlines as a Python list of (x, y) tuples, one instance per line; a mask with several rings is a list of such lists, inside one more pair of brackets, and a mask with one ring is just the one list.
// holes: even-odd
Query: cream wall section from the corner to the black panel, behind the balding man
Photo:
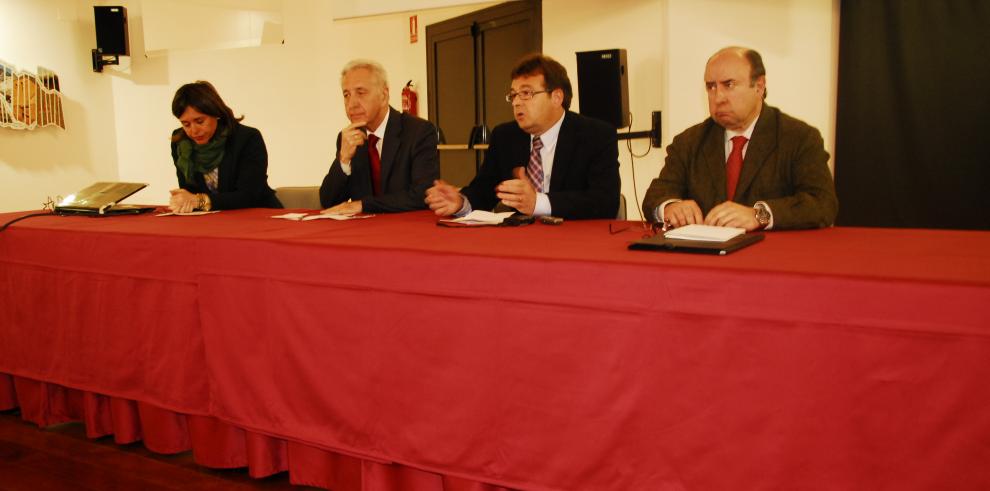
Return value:
[(763, 56), (767, 103), (822, 132), (834, 147), (838, 2), (832, 0), (667, 0), (664, 138), (708, 116), (702, 78), (719, 48)]

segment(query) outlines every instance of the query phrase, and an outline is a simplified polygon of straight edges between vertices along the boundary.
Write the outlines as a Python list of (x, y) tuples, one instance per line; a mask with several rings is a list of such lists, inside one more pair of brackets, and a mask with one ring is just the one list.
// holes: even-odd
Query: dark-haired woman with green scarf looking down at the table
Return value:
[(281, 208), (268, 187), (268, 150), (261, 132), (241, 124), (209, 82), (179, 87), (172, 114), (172, 161), (179, 187), (168, 207), (177, 213), (234, 208)]

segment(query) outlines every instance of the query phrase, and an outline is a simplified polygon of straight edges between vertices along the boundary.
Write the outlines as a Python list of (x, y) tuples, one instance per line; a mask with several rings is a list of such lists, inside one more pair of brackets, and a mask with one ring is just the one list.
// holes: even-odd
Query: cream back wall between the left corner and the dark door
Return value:
[[(141, 2), (124, 1), (130, 25), (141, 25)], [(389, 73), (390, 100), (401, 108), (401, 90), (412, 79), (426, 114), (425, 26), (482, 6), (416, 12), (419, 42), (409, 43), (409, 15), (334, 21), (322, 0), (283, 3), (285, 44), (225, 50), (170, 51), (145, 58), (132, 30), (130, 73), (114, 75), (120, 175), (150, 182), (142, 198), (165, 202), (175, 186), (168, 137), (178, 127), (170, 111), (180, 85), (212, 82), (244, 124), (261, 130), (268, 146), (272, 187), (319, 185), (333, 161), (337, 132), (347, 124), (340, 69), (354, 57), (381, 62)], [(191, 33), (194, 34), (194, 33)]]

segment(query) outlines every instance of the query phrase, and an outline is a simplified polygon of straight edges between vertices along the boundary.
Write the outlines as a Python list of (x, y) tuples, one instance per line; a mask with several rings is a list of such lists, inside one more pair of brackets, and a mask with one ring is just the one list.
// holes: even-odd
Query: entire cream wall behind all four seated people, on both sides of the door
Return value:
[[(106, 2), (104, 2), (106, 3)], [(406, 80), (419, 86), (426, 113), (425, 26), (487, 5), (414, 12), (420, 42), (408, 42), (408, 16), (388, 14), (334, 21), (323, 0), (283, 2), (284, 45), (222, 50), (179, 50), (145, 57), (141, 0), (128, 8), (132, 56), (120, 69), (93, 74), (89, 49), (93, 2), (0, 0), (0, 58), (18, 66), (41, 64), (63, 77), (67, 130), (0, 131), (0, 211), (37, 208), (36, 195), (66, 193), (97, 179), (151, 183), (135, 198), (164, 203), (175, 174), (168, 136), (176, 125), (172, 94), (206, 79), (245, 124), (259, 128), (270, 156), (273, 187), (319, 184), (334, 138), (346, 124), (338, 87), (340, 67), (356, 56), (389, 71), (391, 102), (400, 107)], [(730, 44), (752, 46), (765, 58), (771, 104), (807, 120), (825, 135), (831, 152), (835, 105), (837, 15), (834, 0), (543, 0), (544, 51), (576, 78), (576, 51), (625, 48), (629, 61), (633, 130), (647, 129), (650, 112), (664, 114), (663, 140), (707, 116), (702, 73), (707, 57)], [(72, 21), (58, 20), (58, 11)], [(63, 18), (67, 14), (62, 14)], [(178, 23), (177, 23), (178, 24)], [(13, 31), (13, 33), (12, 33)], [(48, 34), (32, 45), (17, 34)], [(196, 37), (195, 32), (189, 36)], [(48, 61), (52, 60), (52, 61)], [(83, 97), (85, 94), (85, 97)], [(575, 101), (575, 108), (580, 100)], [(33, 135), (32, 135), (33, 133)], [(646, 140), (633, 142), (637, 154)], [(630, 218), (663, 161), (661, 149), (636, 159), (633, 191), (629, 154), (620, 146), (623, 193)], [(118, 165), (119, 163), (119, 165)], [(45, 190), (39, 194), (38, 190)], [(134, 198), (132, 198), (134, 199)]]

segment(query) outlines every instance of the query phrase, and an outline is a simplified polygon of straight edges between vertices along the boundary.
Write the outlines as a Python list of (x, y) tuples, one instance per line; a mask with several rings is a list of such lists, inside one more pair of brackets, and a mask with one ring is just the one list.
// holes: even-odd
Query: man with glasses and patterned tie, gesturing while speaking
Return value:
[(615, 128), (568, 111), (571, 82), (560, 63), (529, 55), (511, 74), (515, 122), (496, 126), (485, 162), (467, 187), (436, 181), (426, 203), (463, 216), (496, 204), (534, 216), (614, 218), (619, 206)]

